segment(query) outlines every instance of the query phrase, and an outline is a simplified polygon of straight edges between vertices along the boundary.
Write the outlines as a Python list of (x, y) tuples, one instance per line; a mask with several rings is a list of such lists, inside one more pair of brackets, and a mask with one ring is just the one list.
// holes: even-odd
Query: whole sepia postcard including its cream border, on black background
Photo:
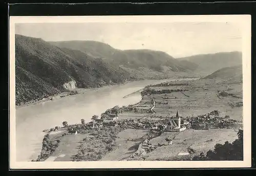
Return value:
[(11, 166), (250, 167), (250, 23), (11, 16)]

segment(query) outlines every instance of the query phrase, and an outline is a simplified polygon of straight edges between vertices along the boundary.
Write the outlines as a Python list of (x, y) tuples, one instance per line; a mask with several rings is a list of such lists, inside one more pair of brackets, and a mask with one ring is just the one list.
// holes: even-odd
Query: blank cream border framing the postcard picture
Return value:
[[(15, 130), (15, 24), (16, 23), (232, 23), (242, 31), (244, 161), (84, 161), (16, 162)], [(200, 32), (200, 31), (199, 31)], [(231, 168), (251, 167), (251, 16), (250, 15), (149, 15), (149, 16), (10, 16), (10, 169), (76, 168)]]

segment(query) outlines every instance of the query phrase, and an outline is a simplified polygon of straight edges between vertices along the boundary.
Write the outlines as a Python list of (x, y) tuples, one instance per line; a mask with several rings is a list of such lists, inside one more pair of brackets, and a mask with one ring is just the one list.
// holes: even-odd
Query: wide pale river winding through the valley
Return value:
[(165, 81), (170, 81), (170, 79), (143, 80), (104, 86), (54, 101), (16, 108), (16, 161), (31, 161), (37, 158), (41, 151), (42, 138), (45, 135), (42, 130), (62, 126), (63, 121), (72, 124), (80, 123), (80, 120), (84, 119), (89, 122), (93, 115), (100, 116), (106, 109), (115, 105), (137, 103), (141, 100), (140, 93), (132, 94), (127, 98), (123, 97), (146, 85)]

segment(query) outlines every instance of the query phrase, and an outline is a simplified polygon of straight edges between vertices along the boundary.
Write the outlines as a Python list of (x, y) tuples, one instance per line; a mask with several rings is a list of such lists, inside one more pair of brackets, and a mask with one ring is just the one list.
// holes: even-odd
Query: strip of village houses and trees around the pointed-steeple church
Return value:
[[(125, 107), (126, 108), (126, 107)], [(212, 111), (205, 115), (197, 117), (186, 117), (183, 118), (179, 115), (177, 111), (176, 116), (172, 117), (157, 117), (152, 115), (151, 118), (145, 119), (118, 119), (118, 114), (123, 112), (125, 108), (120, 108), (115, 106), (111, 109), (108, 109), (105, 113), (101, 114), (101, 118), (94, 115), (92, 121), (89, 123), (84, 123), (84, 120), (81, 119), (80, 124), (70, 124), (68, 122), (63, 122), (63, 126), (56, 126), (50, 130), (44, 130), (50, 133), (51, 131), (56, 131), (58, 129), (68, 129), (70, 134), (79, 133), (81, 128), (101, 128), (103, 126), (121, 126), (127, 128), (136, 128), (136, 129), (151, 129), (161, 132), (179, 132), (187, 128), (192, 129), (212, 129), (212, 128), (233, 128), (233, 127), (242, 127), (242, 122), (229, 119), (229, 116), (220, 116), (219, 111)], [(151, 109), (152, 111), (152, 109)], [(154, 118), (159, 118), (156, 120)]]

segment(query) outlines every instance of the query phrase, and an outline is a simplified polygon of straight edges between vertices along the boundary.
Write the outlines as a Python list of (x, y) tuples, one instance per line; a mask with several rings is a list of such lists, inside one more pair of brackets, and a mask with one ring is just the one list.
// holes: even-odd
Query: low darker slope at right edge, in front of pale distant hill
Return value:
[(225, 80), (240, 80), (243, 79), (242, 65), (233, 67), (225, 67), (216, 72), (204, 77), (203, 79), (225, 79)]

